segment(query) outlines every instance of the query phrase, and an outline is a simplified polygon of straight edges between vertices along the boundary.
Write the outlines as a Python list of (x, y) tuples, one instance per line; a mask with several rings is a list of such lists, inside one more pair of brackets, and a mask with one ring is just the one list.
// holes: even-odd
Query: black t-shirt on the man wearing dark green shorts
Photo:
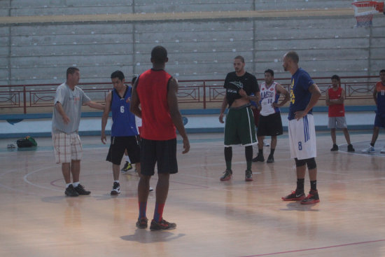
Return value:
[(235, 99), (241, 98), (239, 95), (239, 89), (245, 90), (247, 95), (252, 95), (255, 92), (259, 92), (259, 86), (257, 78), (254, 75), (246, 72), (244, 76), (237, 76), (235, 71), (232, 71), (225, 78), (226, 99), (228, 99), (229, 106), (232, 105)]

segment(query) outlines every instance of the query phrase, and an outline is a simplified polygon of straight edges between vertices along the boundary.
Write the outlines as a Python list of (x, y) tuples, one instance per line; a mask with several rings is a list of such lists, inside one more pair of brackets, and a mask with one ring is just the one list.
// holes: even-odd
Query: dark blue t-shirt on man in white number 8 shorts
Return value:
[[(310, 78), (309, 74), (304, 69), (299, 68), (295, 71), (295, 74), (291, 76), (290, 85), (290, 107), (288, 120), (293, 120), (296, 111), (303, 111), (306, 109), (311, 98), (311, 92), (309, 88), (314, 84), (314, 81)], [(309, 114), (313, 113), (313, 109), (309, 111)]]

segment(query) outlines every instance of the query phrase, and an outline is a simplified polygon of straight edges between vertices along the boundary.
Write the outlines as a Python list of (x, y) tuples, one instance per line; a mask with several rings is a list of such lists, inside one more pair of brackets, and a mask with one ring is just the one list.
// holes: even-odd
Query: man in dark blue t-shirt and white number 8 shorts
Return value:
[[(301, 204), (319, 202), (317, 190), (316, 130), (312, 109), (321, 96), (318, 86), (304, 69), (298, 66), (300, 57), (294, 51), (283, 56), (283, 69), (291, 74), (288, 134), (290, 155), (295, 160), (297, 188), (282, 197), (283, 201), (301, 201)], [(310, 192), (304, 195), (304, 175), (309, 170)]]

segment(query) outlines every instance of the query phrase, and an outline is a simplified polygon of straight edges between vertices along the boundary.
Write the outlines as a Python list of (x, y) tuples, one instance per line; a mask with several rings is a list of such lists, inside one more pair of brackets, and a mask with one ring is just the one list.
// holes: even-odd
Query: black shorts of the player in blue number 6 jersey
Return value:
[(120, 165), (123, 155), (127, 150), (130, 162), (140, 162), (140, 146), (137, 137), (111, 137), (111, 145), (106, 160), (115, 165)]

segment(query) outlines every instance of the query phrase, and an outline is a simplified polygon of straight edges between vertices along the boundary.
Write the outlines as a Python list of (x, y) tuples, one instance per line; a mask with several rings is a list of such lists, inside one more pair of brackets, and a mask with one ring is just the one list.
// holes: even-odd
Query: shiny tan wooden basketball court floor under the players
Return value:
[[(164, 213), (177, 228), (157, 232), (135, 227), (137, 174), (121, 174), (122, 193), (109, 194), (111, 165), (99, 137), (82, 138), (80, 182), (92, 191), (83, 197), (64, 196), (50, 138), (36, 139), (34, 151), (8, 151), (13, 140), (1, 139), (0, 256), (385, 256), (384, 131), (376, 154), (359, 153), (370, 139), (371, 132), (351, 133), (356, 153), (346, 153), (338, 134), (340, 151), (330, 152), (328, 132), (317, 133), (321, 202), (304, 206), (281, 201), (296, 180), (286, 134), (274, 164), (253, 164), (253, 182), (244, 181), (244, 148), (233, 148), (234, 177), (221, 182), (223, 134), (190, 134)], [(150, 219), (154, 205), (151, 193)]]

